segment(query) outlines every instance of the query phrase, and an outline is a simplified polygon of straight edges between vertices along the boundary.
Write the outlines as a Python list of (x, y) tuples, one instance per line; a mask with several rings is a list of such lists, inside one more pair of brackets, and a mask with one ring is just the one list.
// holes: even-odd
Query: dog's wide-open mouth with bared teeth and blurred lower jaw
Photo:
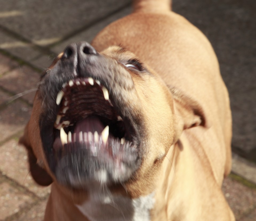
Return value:
[(118, 182), (135, 171), (138, 151), (133, 127), (122, 119), (98, 80), (75, 78), (64, 83), (56, 104), (53, 156), (57, 179), (77, 185), (80, 175), (79, 185), (91, 180)]

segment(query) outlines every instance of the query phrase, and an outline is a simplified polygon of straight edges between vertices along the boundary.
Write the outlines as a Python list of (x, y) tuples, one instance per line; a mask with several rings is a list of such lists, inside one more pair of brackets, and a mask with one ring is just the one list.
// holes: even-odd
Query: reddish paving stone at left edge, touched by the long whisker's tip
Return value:
[[(13, 92), (15, 95), (26, 92), (31, 89), (36, 89), (40, 79), (40, 74), (34, 71), (31, 67), (23, 65), (10, 71), (0, 78), (0, 86), (6, 90)], [(32, 91), (22, 98), (33, 104), (35, 91)]]

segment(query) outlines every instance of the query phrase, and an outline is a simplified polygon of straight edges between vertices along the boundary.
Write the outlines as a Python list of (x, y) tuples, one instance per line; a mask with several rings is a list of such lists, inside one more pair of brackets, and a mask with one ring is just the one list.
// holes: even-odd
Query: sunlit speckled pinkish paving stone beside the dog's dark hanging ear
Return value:
[(39, 197), (50, 193), (50, 187), (42, 187), (35, 183), (29, 173), (27, 151), (14, 139), (0, 146), (0, 170), (20, 185), (34, 192)]

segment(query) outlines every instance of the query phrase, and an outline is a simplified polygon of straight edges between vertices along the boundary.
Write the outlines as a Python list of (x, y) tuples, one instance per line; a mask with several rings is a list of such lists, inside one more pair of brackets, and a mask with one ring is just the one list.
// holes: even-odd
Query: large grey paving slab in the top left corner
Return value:
[[(49, 45), (130, 0), (9, 0), (1, 5), (0, 25), (38, 45)], [(1, 16), (1, 14), (0, 14)]]

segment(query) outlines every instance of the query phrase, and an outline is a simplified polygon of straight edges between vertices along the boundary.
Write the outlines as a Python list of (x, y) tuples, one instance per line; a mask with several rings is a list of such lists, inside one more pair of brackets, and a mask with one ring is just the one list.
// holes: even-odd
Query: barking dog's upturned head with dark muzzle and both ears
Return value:
[(152, 189), (182, 131), (205, 124), (186, 99), (121, 47), (98, 53), (71, 44), (42, 76), (20, 139), (32, 176), (79, 190), (97, 183)]

